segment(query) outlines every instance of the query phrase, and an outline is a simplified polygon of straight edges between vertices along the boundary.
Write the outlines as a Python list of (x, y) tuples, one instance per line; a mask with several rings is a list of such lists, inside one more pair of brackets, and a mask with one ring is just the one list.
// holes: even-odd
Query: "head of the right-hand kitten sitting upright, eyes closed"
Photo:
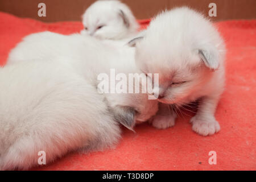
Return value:
[(135, 60), (142, 72), (159, 73), (154, 91), (159, 90), (158, 100), (165, 104), (191, 100), (222, 64), (218, 32), (186, 7), (156, 16), (144, 36), (129, 44), (136, 46)]

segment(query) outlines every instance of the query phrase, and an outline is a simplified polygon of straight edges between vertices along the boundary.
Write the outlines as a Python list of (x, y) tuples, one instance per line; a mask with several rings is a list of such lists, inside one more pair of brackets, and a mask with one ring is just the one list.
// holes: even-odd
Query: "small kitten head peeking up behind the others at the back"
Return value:
[(117, 0), (96, 1), (82, 15), (84, 30), (99, 39), (122, 39), (137, 32), (138, 23), (125, 4)]

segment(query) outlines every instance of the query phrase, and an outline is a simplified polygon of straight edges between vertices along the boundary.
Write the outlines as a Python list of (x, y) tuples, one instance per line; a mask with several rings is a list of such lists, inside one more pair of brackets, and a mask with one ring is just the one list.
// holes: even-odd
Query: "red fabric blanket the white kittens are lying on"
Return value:
[[(149, 20), (142, 20), (143, 26)], [(144, 123), (136, 133), (123, 129), (117, 148), (92, 154), (68, 154), (36, 169), (53, 170), (256, 170), (256, 20), (216, 23), (226, 41), (226, 89), (217, 107), (221, 131), (201, 137), (191, 130), (187, 112), (176, 125), (157, 130)], [(0, 13), (0, 64), (22, 38), (40, 31), (72, 34), (80, 22), (42, 23)], [(0, 88), (4, 89), (4, 88)], [(216, 151), (217, 164), (208, 155)]]

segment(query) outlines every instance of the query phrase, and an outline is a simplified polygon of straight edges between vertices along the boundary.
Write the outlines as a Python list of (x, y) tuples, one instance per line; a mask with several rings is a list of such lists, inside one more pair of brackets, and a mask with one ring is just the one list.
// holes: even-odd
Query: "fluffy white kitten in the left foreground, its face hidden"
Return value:
[(69, 151), (113, 147), (118, 123), (103, 95), (58, 62), (24, 61), (0, 69), (0, 169), (28, 169)]

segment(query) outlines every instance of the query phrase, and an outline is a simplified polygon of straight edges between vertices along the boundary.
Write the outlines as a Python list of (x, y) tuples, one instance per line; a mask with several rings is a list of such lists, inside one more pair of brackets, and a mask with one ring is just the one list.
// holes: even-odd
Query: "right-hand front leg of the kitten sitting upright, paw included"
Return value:
[(218, 97), (204, 97), (200, 101), (197, 114), (191, 118), (192, 130), (196, 133), (207, 136), (220, 131), (220, 125), (214, 117)]

